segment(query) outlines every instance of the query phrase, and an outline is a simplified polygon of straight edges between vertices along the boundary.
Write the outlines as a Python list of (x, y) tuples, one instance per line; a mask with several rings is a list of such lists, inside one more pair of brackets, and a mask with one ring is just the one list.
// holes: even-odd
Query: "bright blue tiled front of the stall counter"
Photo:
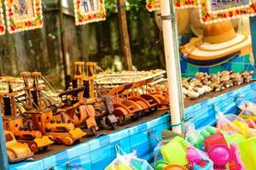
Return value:
[[(218, 105), (224, 113), (236, 113), (236, 98), (253, 99), (256, 83), (230, 91), (227, 94), (207, 99), (185, 110), (185, 117), (193, 122), (196, 128), (215, 122), (213, 105)], [(39, 161), (26, 161), (10, 165), (10, 169), (85, 169), (102, 170), (115, 158), (114, 146), (119, 144), (125, 152), (137, 150), (137, 156), (153, 161), (153, 149), (157, 141), (148, 132), (153, 132), (160, 138), (161, 130), (170, 129), (170, 115), (166, 114), (149, 122), (143, 122), (134, 127), (127, 127), (116, 133), (91, 139), (68, 150), (61, 151)]]

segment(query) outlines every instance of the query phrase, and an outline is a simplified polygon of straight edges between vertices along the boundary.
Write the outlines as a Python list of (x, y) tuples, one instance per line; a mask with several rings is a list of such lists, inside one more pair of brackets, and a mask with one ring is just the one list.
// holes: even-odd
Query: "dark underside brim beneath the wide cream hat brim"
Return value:
[(187, 56), (185, 56), (183, 54), (181, 54), (181, 57), (184, 60), (186, 60), (187, 62), (189, 62), (191, 65), (196, 65), (196, 66), (201, 66), (201, 67), (211, 67), (211, 66), (215, 66), (215, 65), (221, 65), (221, 64), (227, 62), (228, 60), (238, 57), (240, 55), (241, 55), (241, 51), (236, 51), (233, 54), (226, 55), (219, 59), (211, 59), (211, 60), (204, 60), (204, 61), (189, 59)]

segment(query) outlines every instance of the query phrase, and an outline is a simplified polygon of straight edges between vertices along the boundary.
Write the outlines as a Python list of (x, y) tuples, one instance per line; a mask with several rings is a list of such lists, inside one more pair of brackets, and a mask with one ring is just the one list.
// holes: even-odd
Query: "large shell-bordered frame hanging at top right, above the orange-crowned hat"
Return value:
[(199, 2), (199, 13), (203, 24), (256, 14), (255, 0), (200, 0)]

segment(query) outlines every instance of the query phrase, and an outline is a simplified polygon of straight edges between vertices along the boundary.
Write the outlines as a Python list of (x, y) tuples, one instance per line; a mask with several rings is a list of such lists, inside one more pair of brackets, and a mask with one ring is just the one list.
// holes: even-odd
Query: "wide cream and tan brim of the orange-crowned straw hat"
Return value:
[(181, 47), (181, 53), (188, 59), (207, 61), (221, 59), (224, 56), (241, 51), (241, 54), (250, 53), (252, 51), (251, 37), (236, 34), (236, 37), (228, 42), (211, 44), (204, 42), (200, 46), (189, 50), (186, 45)]

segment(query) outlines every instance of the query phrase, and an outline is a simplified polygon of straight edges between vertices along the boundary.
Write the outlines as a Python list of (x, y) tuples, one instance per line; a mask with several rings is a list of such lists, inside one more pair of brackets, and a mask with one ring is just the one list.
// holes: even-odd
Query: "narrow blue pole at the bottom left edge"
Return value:
[(5, 145), (5, 136), (3, 133), (3, 119), (2, 113), (0, 111), (0, 169), (8, 170), (9, 169), (9, 161), (7, 158), (7, 151)]

